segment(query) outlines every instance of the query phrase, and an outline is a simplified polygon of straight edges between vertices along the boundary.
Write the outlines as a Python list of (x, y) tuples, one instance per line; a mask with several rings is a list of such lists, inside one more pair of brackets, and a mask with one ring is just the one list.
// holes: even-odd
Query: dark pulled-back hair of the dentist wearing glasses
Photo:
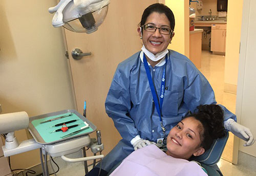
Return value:
[(160, 4), (160, 3), (152, 4), (144, 10), (142, 17), (141, 17), (140, 24), (139, 24), (140, 27), (142, 25), (145, 25), (147, 17), (150, 16), (150, 14), (153, 12), (165, 14), (167, 16), (167, 18), (169, 19), (170, 29), (172, 29), (172, 31), (174, 31), (174, 27), (175, 27), (174, 13), (167, 6), (165, 6), (164, 4)]

